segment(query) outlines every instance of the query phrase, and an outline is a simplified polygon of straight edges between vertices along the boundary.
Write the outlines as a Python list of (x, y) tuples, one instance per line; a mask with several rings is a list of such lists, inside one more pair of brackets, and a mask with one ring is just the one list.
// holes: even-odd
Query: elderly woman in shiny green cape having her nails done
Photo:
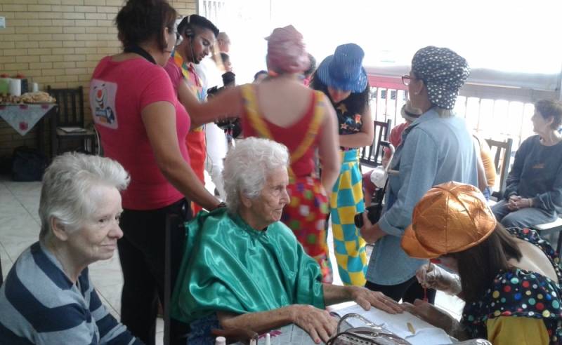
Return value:
[(172, 316), (191, 324), (189, 344), (211, 343), (210, 331), (254, 332), (294, 323), (315, 342), (336, 320), (325, 306), (353, 300), (388, 313), (402, 308), (380, 292), (322, 283), (320, 266), (280, 222), (289, 203), (282, 144), (248, 138), (226, 156), (228, 208), (201, 212), (186, 225), (187, 241), (172, 297)]

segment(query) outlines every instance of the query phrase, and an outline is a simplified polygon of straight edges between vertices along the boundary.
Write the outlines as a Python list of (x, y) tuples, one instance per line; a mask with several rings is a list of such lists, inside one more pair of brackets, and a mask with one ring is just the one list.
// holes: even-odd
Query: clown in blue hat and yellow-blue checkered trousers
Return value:
[(355, 214), (365, 210), (358, 149), (372, 144), (374, 132), (364, 56), (357, 44), (342, 44), (320, 63), (311, 82), (329, 97), (339, 123), (342, 166), (330, 198), (339, 276), (346, 285), (360, 286), (365, 285), (367, 254), (353, 223)]

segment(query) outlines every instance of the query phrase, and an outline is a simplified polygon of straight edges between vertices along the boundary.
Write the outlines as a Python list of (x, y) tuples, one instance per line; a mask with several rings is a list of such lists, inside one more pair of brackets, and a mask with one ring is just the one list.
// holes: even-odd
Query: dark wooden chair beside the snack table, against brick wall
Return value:
[(58, 104), (58, 114), (53, 116), (51, 121), (55, 121), (56, 140), (51, 143), (52, 156), (59, 154), (61, 143), (71, 140), (81, 140), (81, 147), (77, 150), (84, 150), (91, 154), (98, 154), (99, 140), (94, 129), (84, 126), (84, 88), (51, 88), (47, 86), (47, 92), (56, 98)]

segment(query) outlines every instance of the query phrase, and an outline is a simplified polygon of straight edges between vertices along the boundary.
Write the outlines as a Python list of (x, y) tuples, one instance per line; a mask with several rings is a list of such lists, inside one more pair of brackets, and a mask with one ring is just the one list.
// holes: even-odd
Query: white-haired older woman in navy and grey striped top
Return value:
[(127, 184), (129, 174), (110, 158), (53, 160), (43, 177), (39, 242), (0, 288), (2, 344), (142, 344), (107, 312), (88, 274), (123, 236), (119, 191)]

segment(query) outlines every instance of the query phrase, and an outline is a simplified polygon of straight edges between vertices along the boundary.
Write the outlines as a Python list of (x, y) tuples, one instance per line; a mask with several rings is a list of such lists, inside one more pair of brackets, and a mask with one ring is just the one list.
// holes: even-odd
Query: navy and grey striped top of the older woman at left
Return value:
[(117, 323), (85, 269), (77, 284), (58, 261), (32, 245), (0, 288), (0, 344), (142, 344)]

